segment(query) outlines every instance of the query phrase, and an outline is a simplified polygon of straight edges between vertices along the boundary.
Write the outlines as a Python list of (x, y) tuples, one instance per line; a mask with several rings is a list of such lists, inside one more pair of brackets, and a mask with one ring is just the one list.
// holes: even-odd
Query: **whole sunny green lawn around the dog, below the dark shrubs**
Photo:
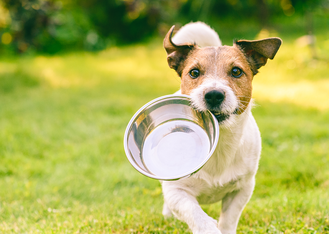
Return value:
[[(312, 60), (284, 42), (254, 78), (263, 151), (238, 233), (329, 233), (328, 40), (317, 46)], [(0, 60), (1, 233), (190, 233), (123, 150), (133, 114), (180, 85), (165, 56), (158, 40)], [(220, 206), (203, 208), (217, 219)]]

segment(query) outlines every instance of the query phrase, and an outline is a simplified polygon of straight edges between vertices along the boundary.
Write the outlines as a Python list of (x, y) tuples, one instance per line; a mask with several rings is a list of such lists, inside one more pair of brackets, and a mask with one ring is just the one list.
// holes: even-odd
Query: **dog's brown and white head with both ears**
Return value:
[(182, 94), (191, 96), (198, 111), (214, 113), (219, 124), (232, 123), (245, 112), (252, 79), (268, 58), (274, 58), (281, 39), (240, 40), (233, 46), (199, 48), (190, 43), (174, 44), (173, 30), (174, 26), (164, 39), (164, 48), (169, 67), (181, 77)]

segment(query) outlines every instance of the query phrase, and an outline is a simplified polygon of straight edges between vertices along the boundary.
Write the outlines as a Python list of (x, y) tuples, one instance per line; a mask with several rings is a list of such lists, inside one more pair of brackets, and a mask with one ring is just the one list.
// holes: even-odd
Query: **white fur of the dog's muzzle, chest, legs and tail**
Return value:
[[(197, 28), (203, 33), (195, 33)], [(220, 46), (217, 33), (204, 23), (190, 23), (173, 37), (175, 43), (196, 42), (201, 46)], [(222, 111), (232, 113), (238, 99), (231, 88), (216, 77), (209, 77), (191, 94), (195, 108), (204, 111), (206, 90), (225, 91)], [(179, 93), (178, 91), (177, 93)], [(220, 124), (216, 150), (202, 169), (193, 176), (179, 181), (162, 181), (164, 195), (163, 215), (174, 214), (185, 221), (193, 234), (235, 234), (241, 212), (249, 201), (255, 185), (255, 174), (261, 152), (261, 137), (250, 111), (231, 115)], [(222, 201), (219, 221), (209, 217), (199, 204)]]

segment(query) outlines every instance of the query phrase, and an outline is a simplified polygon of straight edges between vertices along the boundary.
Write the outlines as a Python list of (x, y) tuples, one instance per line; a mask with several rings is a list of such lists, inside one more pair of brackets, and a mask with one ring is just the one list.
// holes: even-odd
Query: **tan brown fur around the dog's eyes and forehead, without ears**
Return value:
[[(232, 76), (234, 67), (239, 67), (243, 74), (239, 78)], [(192, 78), (190, 70), (198, 69), (200, 76)], [(181, 74), (182, 94), (190, 93), (206, 79), (218, 79), (229, 86), (240, 101), (238, 114), (246, 109), (252, 93), (253, 73), (244, 54), (237, 46), (205, 47), (190, 51), (179, 70)]]

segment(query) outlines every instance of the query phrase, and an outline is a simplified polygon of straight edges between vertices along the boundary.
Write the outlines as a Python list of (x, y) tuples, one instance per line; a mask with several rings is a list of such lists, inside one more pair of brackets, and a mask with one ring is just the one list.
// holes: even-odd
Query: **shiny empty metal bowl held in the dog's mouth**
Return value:
[(130, 120), (124, 149), (129, 162), (158, 180), (190, 177), (209, 160), (218, 141), (218, 121), (190, 107), (187, 95), (156, 98)]

